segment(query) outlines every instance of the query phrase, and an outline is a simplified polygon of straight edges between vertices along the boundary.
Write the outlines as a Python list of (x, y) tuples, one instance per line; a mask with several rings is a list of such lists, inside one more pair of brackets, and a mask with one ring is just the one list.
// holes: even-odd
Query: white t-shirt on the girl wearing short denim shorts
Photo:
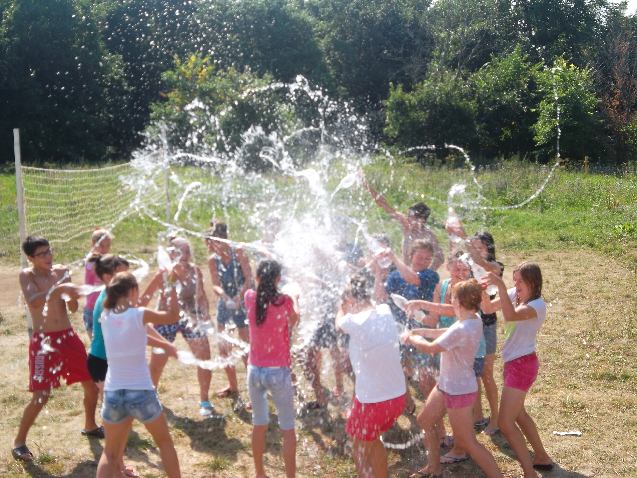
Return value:
[(105, 309), (100, 317), (108, 371), (104, 391), (154, 390), (146, 361), (146, 327), (143, 307), (131, 307), (121, 314)]

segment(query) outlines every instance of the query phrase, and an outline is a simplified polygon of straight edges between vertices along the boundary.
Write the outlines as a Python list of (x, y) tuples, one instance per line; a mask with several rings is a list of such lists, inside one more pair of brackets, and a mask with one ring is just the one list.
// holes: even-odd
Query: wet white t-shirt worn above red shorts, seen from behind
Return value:
[(350, 335), (350, 361), (356, 375), (356, 398), (378, 403), (406, 393), (396, 320), (389, 305), (347, 314), (338, 326)]

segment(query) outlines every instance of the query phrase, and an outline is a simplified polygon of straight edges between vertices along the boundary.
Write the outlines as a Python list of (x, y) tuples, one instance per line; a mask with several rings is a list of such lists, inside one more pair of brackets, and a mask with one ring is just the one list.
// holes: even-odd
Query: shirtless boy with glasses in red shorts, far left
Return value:
[[(31, 461), (33, 454), (26, 445), (27, 433), (47, 404), (51, 389), (60, 386), (61, 378), (67, 385), (82, 382), (84, 387), (82, 435), (104, 438), (104, 428), (95, 423), (97, 387), (86, 368), (84, 345), (73, 331), (66, 312), (67, 307), (71, 312), (78, 310), (80, 294), (77, 287), (71, 284), (69, 277), (61, 280), (68, 270), (62, 264), (53, 264), (53, 250), (45, 238), (27, 237), (22, 250), (33, 264), (20, 272), (20, 287), (33, 319), (33, 338), (29, 344), (29, 391), (33, 398), (24, 407), (11, 454), (16, 460)], [(51, 287), (54, 289), (48, 298), (45, 315), (45, 302)], [(62, 294), (70, 300), (64, 301)]]

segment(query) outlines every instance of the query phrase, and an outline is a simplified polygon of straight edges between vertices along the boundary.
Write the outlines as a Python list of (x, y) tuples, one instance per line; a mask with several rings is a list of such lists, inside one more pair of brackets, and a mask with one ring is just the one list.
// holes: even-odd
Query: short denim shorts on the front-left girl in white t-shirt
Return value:
[(134, 418), (141, 423), (150, 423), (162, 414), (161, 403), (154, 390), (116, 390), (104, 392), (102, 421), (111, 425)]

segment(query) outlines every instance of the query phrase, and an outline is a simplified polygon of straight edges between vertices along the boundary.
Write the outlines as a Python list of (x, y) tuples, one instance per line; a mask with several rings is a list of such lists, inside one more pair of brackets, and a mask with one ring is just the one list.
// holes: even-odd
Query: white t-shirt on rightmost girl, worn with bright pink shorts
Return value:
[[(509, 289), (509, 298), (515, 305), (517, 291), (515, 287)], [(517, 358), (532, 354), (535, 351), (535, 336), (547, 316), (547, 303), (542, 299), (535, 299), (527, 302), (526, 305), (533, 307), (538, 316), (526, 321), (507, 322), (505, 319), (505, 343), (502, 344), (502, 359), (510, 362)]]

